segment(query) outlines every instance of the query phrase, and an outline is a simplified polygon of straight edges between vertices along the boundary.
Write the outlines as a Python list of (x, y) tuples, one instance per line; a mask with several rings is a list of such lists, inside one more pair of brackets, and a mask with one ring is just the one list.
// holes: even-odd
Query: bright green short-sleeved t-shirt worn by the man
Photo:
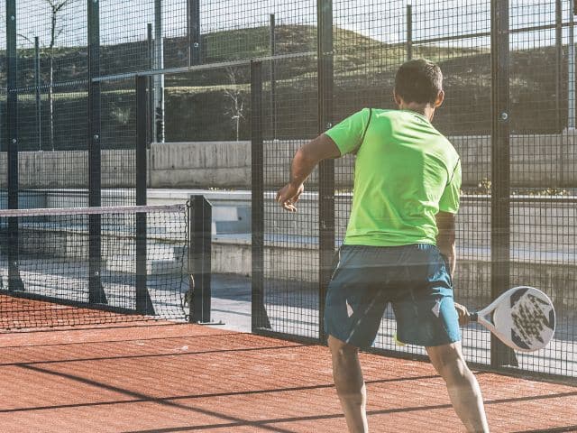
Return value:
[(325, 134), (356, 153), (344, 244), (435, 244), (435, 215), (456, 214), (461, 161), (424, 115), (364, 108)]

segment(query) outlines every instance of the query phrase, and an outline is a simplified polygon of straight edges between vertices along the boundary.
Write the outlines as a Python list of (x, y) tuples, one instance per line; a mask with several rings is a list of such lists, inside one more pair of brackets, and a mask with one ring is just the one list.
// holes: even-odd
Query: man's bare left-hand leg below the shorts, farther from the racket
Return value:
[(334, 386), (349, 431), (367, 433), (367, 390), (362, 379), (359, 349), (334, 336), (328, 337), (328, 347), (333, 355)]

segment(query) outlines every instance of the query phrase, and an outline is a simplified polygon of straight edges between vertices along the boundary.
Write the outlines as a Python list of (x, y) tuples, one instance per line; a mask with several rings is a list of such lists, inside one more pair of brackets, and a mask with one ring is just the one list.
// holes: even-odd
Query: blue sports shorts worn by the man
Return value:
[(453, 282), (435, 245), (343, 245), (326, 294), (326, 334), (370, 347), (389, 302), (398, 341), (434, 346), (461, 340)]

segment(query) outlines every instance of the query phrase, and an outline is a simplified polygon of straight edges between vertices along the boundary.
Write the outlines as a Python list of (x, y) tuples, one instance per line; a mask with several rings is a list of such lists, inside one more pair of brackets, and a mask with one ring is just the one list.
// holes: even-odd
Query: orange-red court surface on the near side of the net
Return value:
[[(6, 432), (344, 432), (328, 349), (199, 325), (0, 334)], [(371, 432), (464, 431), (424, 362), (362, 354)], [(475, 372), (493, 432), (577, 431), (577, 387)]]

